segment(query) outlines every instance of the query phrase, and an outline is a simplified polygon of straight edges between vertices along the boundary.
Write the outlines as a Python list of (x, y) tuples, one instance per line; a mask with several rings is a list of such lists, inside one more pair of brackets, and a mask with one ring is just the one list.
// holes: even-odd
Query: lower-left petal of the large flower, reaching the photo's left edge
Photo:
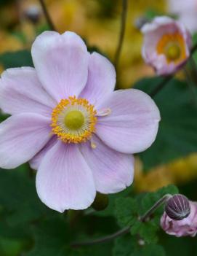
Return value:
[(0, 124), (0, 167), (16, 168), (27, 162), (50, 138), (49, 118), (37, 114), (13, 115)]

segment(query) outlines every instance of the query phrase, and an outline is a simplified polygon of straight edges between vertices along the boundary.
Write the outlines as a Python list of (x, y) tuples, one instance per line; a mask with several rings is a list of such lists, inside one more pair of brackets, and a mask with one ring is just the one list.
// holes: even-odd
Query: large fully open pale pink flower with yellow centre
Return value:
[(113, 65), (72, 32), (44, 32), (32, 57), (35, 69), (1, 76), (0, 106), (12, 115), (0, 125), (1, 168), (30, 160), (41, 201), (59, 212), (131, 185), (132, 154), (156, 139), (153, 100), (140, 90), (113, 91)]

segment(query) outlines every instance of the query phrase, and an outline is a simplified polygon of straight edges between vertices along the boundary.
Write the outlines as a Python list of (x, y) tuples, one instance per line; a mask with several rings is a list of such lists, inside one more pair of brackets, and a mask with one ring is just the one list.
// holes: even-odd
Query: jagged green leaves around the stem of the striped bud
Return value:
[(145, 244), (153, 244), (158, 241), (157, 231), (159, 220), (164, 212), (164, 206), (160, 206), (148, 222), (141, 222), (145, 212), (148, 211), (160, 198), (166, 194), (178, 193), (177, 187), (169, 185), (155, 193), (147, 193), (141, 198), (118, 198), (116, 200), (116, 218), (121, 227), (131, 227), (131, 234), (140, 236)]

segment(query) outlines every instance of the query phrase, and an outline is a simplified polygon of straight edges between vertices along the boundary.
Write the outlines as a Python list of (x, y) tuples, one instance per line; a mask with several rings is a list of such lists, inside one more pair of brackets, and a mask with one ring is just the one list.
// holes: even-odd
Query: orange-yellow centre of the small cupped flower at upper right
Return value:
[(179, 63), (186, 58), (185, 40), (182, 34), (164, 34), (156, 46), (158, 54), (164, 54), (168, 63)]

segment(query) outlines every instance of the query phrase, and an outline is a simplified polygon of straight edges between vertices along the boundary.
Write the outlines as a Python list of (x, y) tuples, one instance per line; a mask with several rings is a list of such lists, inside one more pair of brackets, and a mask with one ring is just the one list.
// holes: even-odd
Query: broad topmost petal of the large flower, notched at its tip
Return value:
[(33, 63), (47, 92), (58, 102), (79, 96), (87, 82), (89, 53), (80, 36), (46, 31), (32, 46)]

